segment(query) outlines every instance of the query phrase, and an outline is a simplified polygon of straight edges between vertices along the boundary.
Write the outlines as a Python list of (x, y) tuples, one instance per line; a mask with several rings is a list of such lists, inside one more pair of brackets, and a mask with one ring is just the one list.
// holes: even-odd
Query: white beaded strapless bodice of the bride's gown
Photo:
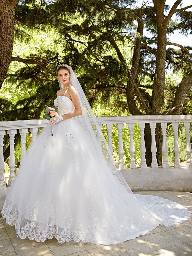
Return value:
[(73, 101), (66, 96), (57, 96), (54, 100), (54, 105), (58, 107), (58, 114), (64, 115), (70, 113), (74, 109)]

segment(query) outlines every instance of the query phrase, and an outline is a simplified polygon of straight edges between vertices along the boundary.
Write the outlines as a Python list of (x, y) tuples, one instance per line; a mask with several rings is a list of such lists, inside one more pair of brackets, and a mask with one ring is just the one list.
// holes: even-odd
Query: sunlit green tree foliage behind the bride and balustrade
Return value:
[[(137, 32), (137, 11), (128, 9), (135, 9), (136, 3), (131, 0), (19, 1), (15, 8), (14, 61), (10, 64), (0, 91), (0, 121), (42, 118), (45, 105), (52, 105), (59, 89), (55, 76), (58, 63), (68, 63), (73, 67), (96, 116), (130, 115), (126, 87), (137, 39), (141, 41), (141, 50), (136, 81), (150, 108), (156, 68), (157, 17), (152, 3), (146, 2), (140, 11), (144, 28), (149, 34), (141, 36)], [(167, 12), (169, 8), (165, 5), (164, 10)], [(168, 24), (168, 33), (176, 30), (185, 35), (191, 33), (191, 12), (183, 11), (176, 15), (177, 19)], [(192, 50), (191, 47), (186, 48)], [(191, 55), (182, 48), (176, 50), (168, 45), (166, 72), (162, 114), (172, 107), (182, 76), (191, 74)], [(192, 98), (191, 89), (186, 97)], [(134, 103), (141, 113), (146, 113), (137, 93), (134, 95)], [(191, 114), (191, 111), (191, 101), (188, 101), (182, 113)], [(106, 136), (106, 128), (103, 129)], [(140, 161), (139, 134), (139, 128), (135, 125), (137, 164)], [(123, 136), (129, 137), (127, 125), (123, 128)], [(117, 138), (118, 131), (114, 125), (116, 157)], [(4, 149), (9, 145), (8, 137), (5, 140)], [(171, 148), (173, 137), (169, 145)], [(126, 166), (130, 161), (128, 149), (129, 140), (125, 139)], [(19, 154), (18, 148), (17, 162)], [(169, 154), (171, 163), (174, 155), (173, 152)], [(181, 159), (184, 159), (184, 153)]]

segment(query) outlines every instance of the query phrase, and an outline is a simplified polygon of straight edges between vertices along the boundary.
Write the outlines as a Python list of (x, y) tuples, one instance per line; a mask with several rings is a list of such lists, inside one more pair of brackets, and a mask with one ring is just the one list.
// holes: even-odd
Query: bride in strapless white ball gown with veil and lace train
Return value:
[(132, 193), (72, 68), (59, 65), (57, 77), (59, 116), (49, 121), (54, 135), (47, 125), (29, 146), (2, 209), (17, 235), (115, 244), (186, 220), (181, 205)]

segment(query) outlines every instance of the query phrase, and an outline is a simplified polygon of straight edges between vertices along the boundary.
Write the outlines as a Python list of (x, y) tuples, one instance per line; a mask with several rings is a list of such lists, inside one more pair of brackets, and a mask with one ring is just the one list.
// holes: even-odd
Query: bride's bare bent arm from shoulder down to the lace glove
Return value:
[(73, 105), (75, 109), (68, 114), (62, 115), (63, 120), (69, 119), (75, 116), (80, 116), (82, 114), (81, 106), (80, 106), (78, 95), (76, 93), (75, 88), (73, 86), (69, 86), (69, 88), (67, 89), (67, 92), (73, 101)]

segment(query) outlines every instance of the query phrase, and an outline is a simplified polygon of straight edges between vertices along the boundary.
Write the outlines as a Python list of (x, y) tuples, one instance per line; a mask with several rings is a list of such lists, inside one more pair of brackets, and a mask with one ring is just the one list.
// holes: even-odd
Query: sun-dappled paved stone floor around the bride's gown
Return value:
[[(192, 193), (149, 191), (135, 192), (164, 197), (181, 203), (192, 212)], [(136, 239), (128, 240), (123, 244), (90, 245), (90, 244), (58, 244), (56, 239), (47, 239), (45, 242), (35, 242), (29, 239), (20, 239), (16, 236), (14, 227), (0, 220), (0, 255), (38, 255), (38, 256), (101, 256), (101, 255), (129, 255), (129, 256), (192, 256), (192, 216), (175, 227), (159, 226), (152, 232)]]

